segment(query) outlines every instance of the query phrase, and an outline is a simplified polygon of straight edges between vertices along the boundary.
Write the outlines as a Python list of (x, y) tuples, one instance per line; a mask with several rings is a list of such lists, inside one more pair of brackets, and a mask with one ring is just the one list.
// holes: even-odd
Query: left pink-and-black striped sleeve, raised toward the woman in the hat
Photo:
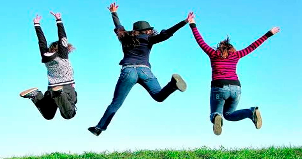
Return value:
[(196, 24), (192, 23), (190, 24), (190, 27), (193, 32), (194, 38), (197, 41), (198, 45), (201, 47), (201, 49), (204, 50), (204, 52), (208, 56), (212, 56), (216, 51), (213, 48), (211, 48), (207, 43), (204, 42), (204, 39), (201, 37), (200, 33), (198, 32)]

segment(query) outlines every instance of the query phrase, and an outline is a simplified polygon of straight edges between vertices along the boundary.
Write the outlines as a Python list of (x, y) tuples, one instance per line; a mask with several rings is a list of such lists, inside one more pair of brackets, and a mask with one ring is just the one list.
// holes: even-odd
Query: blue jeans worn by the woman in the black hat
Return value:
[(156, 77), (149, 68), (145, 67), (128, 67), (120, 72), (113, 99), (111, 104), (107, 107), (103, 117), (96, 126), (99, 129), (105, 130), (109, 125), (112, 117), (123, 104), (125, 98), (130, 92), (134, 84), (142, 85), (151, 95), (151, 97), (158, 101), (164, 101), (170, 94), (176, 91), (176, 85), (169, 82), (165, 87), (161, 88)]

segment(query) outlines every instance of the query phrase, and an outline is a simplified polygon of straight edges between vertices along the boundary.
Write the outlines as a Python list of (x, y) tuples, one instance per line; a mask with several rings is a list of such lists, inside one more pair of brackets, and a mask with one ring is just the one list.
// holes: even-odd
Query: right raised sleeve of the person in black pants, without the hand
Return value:
[(68, 59), (68, 40), (66, 37), (64, 25), (61, 19), (56, 20), (58, 27), (58, 55), (63, 59)]

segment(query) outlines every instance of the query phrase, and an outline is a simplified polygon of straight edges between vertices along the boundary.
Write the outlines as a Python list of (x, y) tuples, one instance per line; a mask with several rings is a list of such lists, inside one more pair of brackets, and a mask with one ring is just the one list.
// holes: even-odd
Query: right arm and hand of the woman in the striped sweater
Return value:
[(247, 54), (254, 51), (258, 46), (260, 46), (265, 40), (267, 40), (269, 37), (274, 35), (275, 33), (278, 33), (280, 31), (279, 27), (273, 27), (271, 30), (269, 30), (267, 33), (265, 33), (262, 37), (260, 37), (258, 40), (256, 40), (254, 43), (246, 47), (245, 49), (236, 51), (236, 54), (239, 58), (242, 58), (246, 56)]

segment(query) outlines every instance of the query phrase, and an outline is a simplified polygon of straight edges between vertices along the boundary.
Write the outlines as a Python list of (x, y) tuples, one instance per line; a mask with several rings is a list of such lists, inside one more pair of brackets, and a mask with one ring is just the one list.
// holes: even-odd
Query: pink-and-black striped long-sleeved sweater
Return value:
[(255, 50), (265, 40), (267, 40), (268, 37), (273, 35), (273, 33), (268, 31), (265, 33), (265, 35), (260, 37), (245, 49), (236, 52), (229, 52), (229, 56), (226, 59), (223, 59), (219, 51), (214, 50), (204, 42), (197, 30), (196, 24), (190, 24), (190, 27), (198, 45), (210, 57), (212, 67), (212, 87), (223, 84), (236, 84), (241, 86), (236, 74), (236, 65), (238, 60)]

